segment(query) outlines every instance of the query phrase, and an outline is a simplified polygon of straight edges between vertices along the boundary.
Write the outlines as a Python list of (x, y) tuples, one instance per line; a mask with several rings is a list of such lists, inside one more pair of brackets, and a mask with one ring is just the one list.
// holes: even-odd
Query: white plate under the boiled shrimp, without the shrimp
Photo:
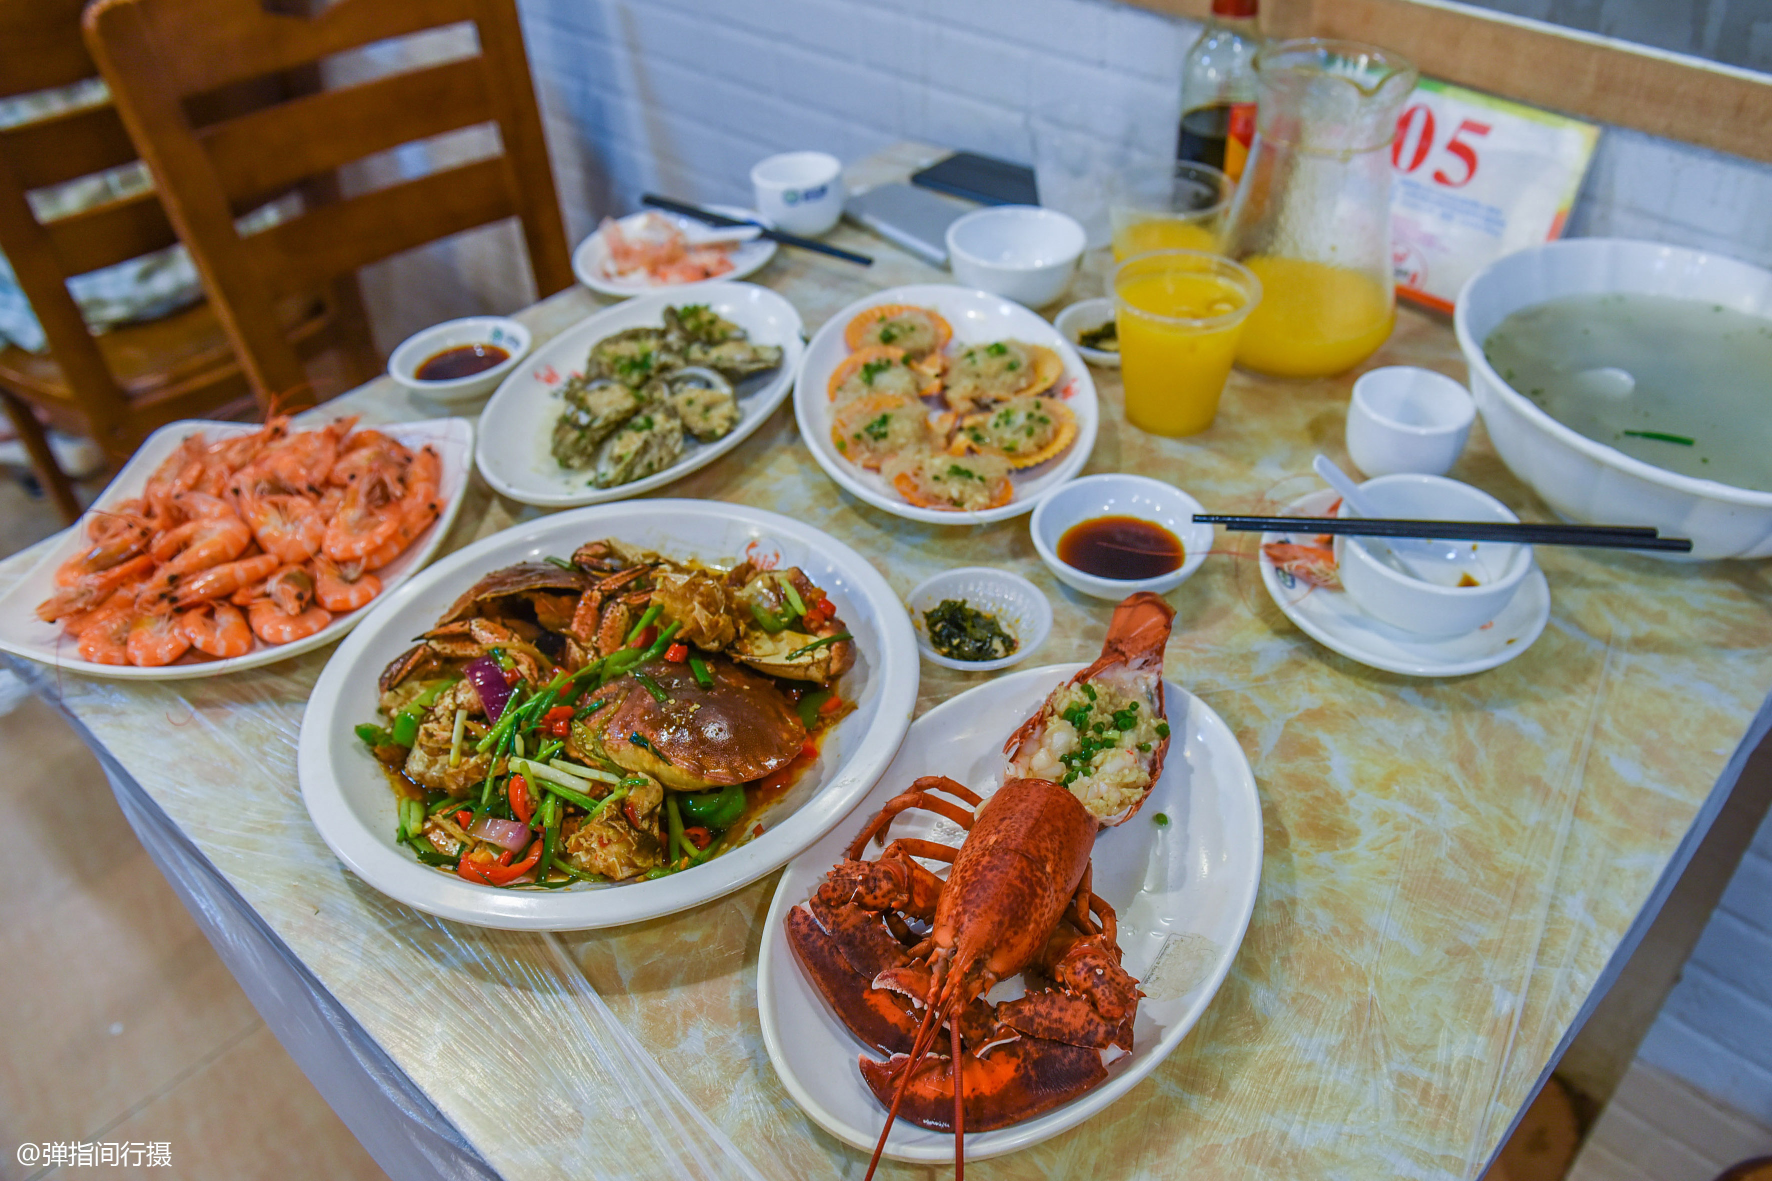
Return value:
[[(298, 428), (307, 430), (314, 425), (317, 423), (308, 423)], [(154, 475), (154, 469), (159, 467), (168, 455), (179, 450), (179, 444), (184, 443), (193, 430), (202, 430), (211, 439), (225, 439), (230, 436), (252, 434), (253, 430), (259, 430), (259, 427), (255, 423), (222, 423), (202, 420), (186, 420), (161, 427), (142, 443), (136, 453), (129, 457), (129, 462), (124, 464), (124, 469), (117, 473), (117, 478), (112, 480), (103, 492), (99, 492), (99, 498), (87, 510), (87, 515), (105, 512), (119, 501), (140, 496), (142, 489), (147, 487), (149, 476)], [(358, 621), (374, 611), (395, 586), (413, 577), (413, 574), (431, 561), (438, 545), (441, 545), (443, 538), (448, 536), (448, 529), (455, 522), (455, 513), (461, 512), (461, 498), (468, 492), (468, 469), (473, 455), (473, 423), (466, 418), (427, 418), (416, 423), (376, 425), (376, 430), (381, 430), (411, 448), (424, 446), (425, 443), (436, 446), (438, 457), (443, 460), (443, 476), (438, 482), (438, 494), (443, 498), (443, 512), (438, 513), (438, 519), (431, 522), (429, 529), (420, 533), (418, 538), (406, 547), (404, 554), (376, 572), (376, 577), (381, 579), (381, 595), (377, 595), (369, 606), (333, 616), (331, 623), (307, 639), (298, 639), (294, 643), (268, 645), (262, 639), (253, 637), (252, 652), (243, 657), (214, 660), (186, 655), (181, 660), (161, 668), (92, 664), (90, 660), (80, 659), (80, 653), (76, 652), (78, 641), (73, 636), (66, 636), (58, 623), (44, 623), (37, 618), (35, 611), (39, 602), (55, 593), (57, 567), (90, 547), (90, 544), (83, 544), (87, 538), (87, 515), (83, 515), (71, 529), (64, 529), (60, 533), (57, 544), (50, 549), (43, 561), (32, 568), (30, 574), (19, 579), (5, 595), (0, 595), (0, 652), (11, 652), (12, 655), (51, 664), (69, 673), (85, 673), (87, 676), (108, 676), (115, 680), (191, 680), (197, 676), (220, 676), (223, 673), (262, 668), (266, 664), (287, 660), (289, 657), (330, 645), (356, 627)]]

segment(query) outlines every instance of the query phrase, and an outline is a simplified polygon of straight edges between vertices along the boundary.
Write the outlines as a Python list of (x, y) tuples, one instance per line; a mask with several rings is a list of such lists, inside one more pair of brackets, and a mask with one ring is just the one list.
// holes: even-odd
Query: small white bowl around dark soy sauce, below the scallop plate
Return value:
[[(1212, 526), (1196, 524), (1194, 513), (1205, 506), (1173, 483), (1150, 476), (1109, 473), (1083, 476), (1049, 492), (1028, 522), (1033, 547), (1053, 575), (1072, 590), (1115, 602), (1141, 590), (1168, 595), (1193, 577), (1212, 549)], [(1095, 517), (1141, 517), (1161, 524), (1182, 540), (1182, 565), (1154, 579), (1104, 579), (1060, 561), (1058, 538), (1072, 526)]]

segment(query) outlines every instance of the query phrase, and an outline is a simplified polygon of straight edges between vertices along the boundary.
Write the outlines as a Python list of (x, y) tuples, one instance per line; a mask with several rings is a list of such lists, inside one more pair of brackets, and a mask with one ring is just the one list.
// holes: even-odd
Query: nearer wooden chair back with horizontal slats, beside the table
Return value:
[[(301, 382), (275, 301), (478, 225), (519, 218), (542, 296), (572, 282), (514, 0), (97, 0), (87, 46), (260, 397)], [(287, 5), (282, 5), (287, 7)], [(473, 23), (478, 53), (200, 124), (191, 103), (358, 46)], [(459, 127), (496, 124), (501, 154), (317, 204), (241, 237), (259, 195)]]

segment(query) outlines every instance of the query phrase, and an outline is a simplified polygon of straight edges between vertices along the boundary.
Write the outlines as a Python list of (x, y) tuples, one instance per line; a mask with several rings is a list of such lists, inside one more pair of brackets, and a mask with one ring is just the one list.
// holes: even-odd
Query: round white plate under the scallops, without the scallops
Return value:
[[(1065, 361), (1065, 375), (1054, 382), (1053, 390), (1065, 398), (1065, 405), (1077, 416), (1077, 439), (1070, 448), (1047, 462), (1010, 475), (1015, 496), (1008, 505), (983, 508), (980, 512), (946, 512), (941, 508), (918, 508), (893, 489), (877, 471), (868, 471), (851, 464), (831, 446), (831, 398), (826, 386), (831, 384), (831, 372), (849, 356), (843, 343), (843, 328), (865, 308), (881, 303), (911, 303), (934, 308), (953, 326), (955, 343), (980, 343), (989, 340), (1024, 340), (1045, 345)], [(952, 345), (950, 345), (952, 347)], [(1030, 312), (1028, 308), (971, 287), (952, 283), (916, 283), (911, 287), (891, 287), (874, 292), (867, 299), (858, 299), (819, 329), (819, 335), (806, 345), (806, 359), (794, 379), (794, 416), (799, 420), (799, 434), (812, 448), (812, 457), (819, 460), (824, 473), (836, 480), (845, 490), (859, 496), (875, 508), (884, 508), (895, 517), (909, 521), (929, 521), (930, 524), (985, 524), (989, 521), (1006, 521), (1031, 512), (1035, 503), (1070, 480), (1090, 459), (1095, 446), (1095, 430), (1100, 425), (1100, 411), (1095, 402), (1095, 381), (1088, 367), (1070, 342), (1056, 328)]]

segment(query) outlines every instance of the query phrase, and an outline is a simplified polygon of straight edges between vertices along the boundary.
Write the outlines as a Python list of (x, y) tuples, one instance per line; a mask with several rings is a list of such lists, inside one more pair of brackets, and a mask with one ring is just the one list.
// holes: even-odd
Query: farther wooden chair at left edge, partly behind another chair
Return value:
[[(82, 2), (0, 0), (0, 97), (97, 76), (80, 32)], [(275, 83), (278, 94), (291, 90), (287, 78)], [(230, 110), (241, 104), (239, 96), (230, 97)], [(0, 251), (50, 345), (48, 356), (0, 349), (0, 402), (44, 490), (69, 521), (80, 505), (34, 407), (57, 428), (90, 434), (112, 464), (163, 423), (252, 407), (252, 386), (211, 305), (94, 336), (69, 296), (69, 278), (163, 250), (177, 234), (151, 189), (50, 221), (37, 220), (27, 193), (135, 159), (110, 103), (0, 129)], [(301, 356), (342, 345), (356, 381), (381, 365), (354, 282), (292, 292), (273, 322)]]

